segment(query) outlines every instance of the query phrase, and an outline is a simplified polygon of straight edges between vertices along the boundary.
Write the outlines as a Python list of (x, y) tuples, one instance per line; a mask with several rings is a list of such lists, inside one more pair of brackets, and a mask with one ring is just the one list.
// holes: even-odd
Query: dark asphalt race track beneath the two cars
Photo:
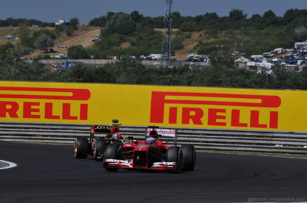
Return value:
[(0, 142), (0, 160), (17, 164), (0, 170), (0, 202), (307, 201), (307, 159), (197, 152), (192, 172), (107, 172), (73, 148)]

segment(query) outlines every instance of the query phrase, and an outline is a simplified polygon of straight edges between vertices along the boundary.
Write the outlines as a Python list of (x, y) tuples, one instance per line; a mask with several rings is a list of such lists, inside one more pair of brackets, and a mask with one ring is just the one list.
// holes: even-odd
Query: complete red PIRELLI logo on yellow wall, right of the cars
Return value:
[[(277, 129), (276, 109), (280, 105), (280, 97), (274, 95), (153, 91), (150, 123), (191, 124), (192, 122), (194, 125), (205, 125), (203, 121), (208, 120), (208, 126)], [(166, 115), (168, 122), (164, 121)], [(248, 115), (248, 120), (243, 120), (243, 115)], [(259, 119), (261, 116), (269, 119), (261, 120)]]

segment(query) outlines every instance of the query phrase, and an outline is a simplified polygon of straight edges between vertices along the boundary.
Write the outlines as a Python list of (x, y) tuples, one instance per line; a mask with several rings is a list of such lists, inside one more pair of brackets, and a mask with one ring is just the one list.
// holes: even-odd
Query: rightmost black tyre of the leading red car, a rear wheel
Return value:
[(193, 145), (182, 145), (183, 170), (193, 171), (196, 163), (196, 150)]

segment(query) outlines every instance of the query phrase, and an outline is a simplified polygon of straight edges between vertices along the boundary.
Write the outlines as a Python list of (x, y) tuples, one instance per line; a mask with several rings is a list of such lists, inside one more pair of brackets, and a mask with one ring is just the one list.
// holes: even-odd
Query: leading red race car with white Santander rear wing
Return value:
[[(175, 146), (166, 145), (158, 138), (174, 138)], [(177, 130), (145, 129), (145, 142), (109, 144), (105, 150), (103, 166), (107, 171), (125, 169), (152, 169), (169, 172), (192, 171), (196, 163), (196, 150), (192, 145), (177, 146)]]

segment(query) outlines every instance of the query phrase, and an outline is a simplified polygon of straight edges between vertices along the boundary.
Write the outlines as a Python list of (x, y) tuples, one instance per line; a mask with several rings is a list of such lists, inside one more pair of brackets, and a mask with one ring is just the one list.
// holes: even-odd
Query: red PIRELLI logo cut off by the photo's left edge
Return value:
[[(0, 117), (87, 120), (90, 97), (87, 89), (0, 87)], [(56, 113), (52, 100), (63, 100)]]

